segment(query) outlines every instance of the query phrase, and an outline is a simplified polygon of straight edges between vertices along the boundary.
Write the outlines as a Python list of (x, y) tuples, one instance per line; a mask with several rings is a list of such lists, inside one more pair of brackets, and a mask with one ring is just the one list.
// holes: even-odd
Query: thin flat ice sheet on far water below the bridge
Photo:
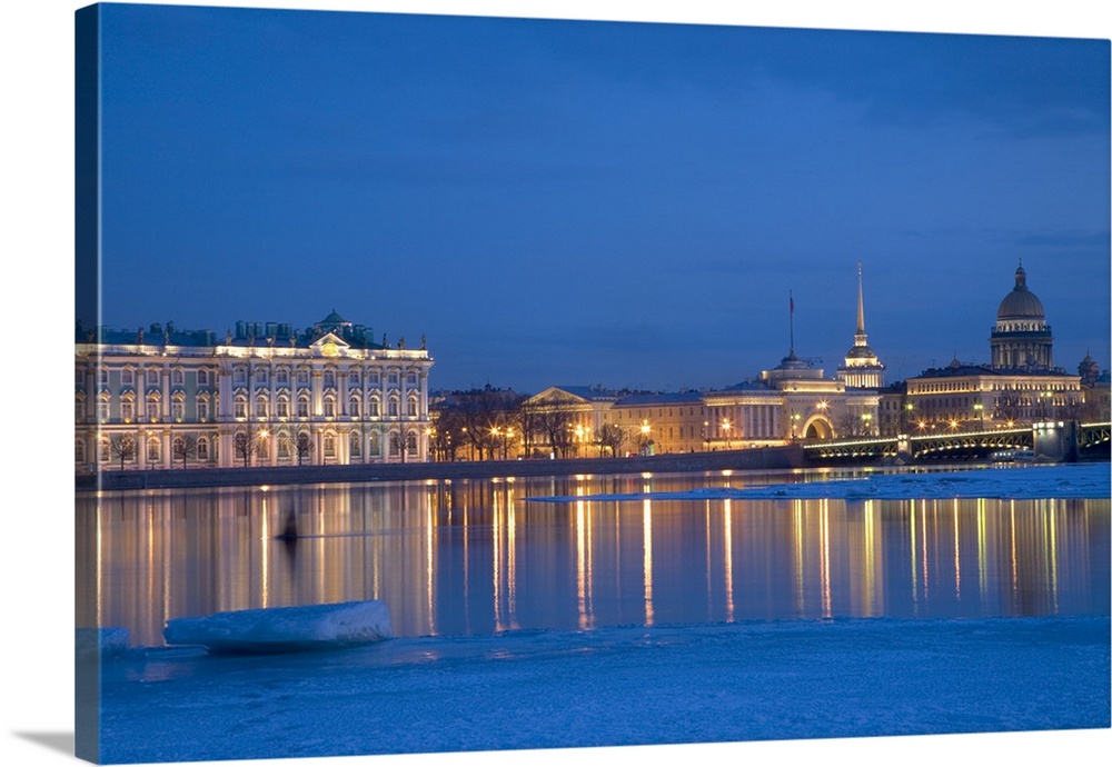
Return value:
[(714, 500), (808, 499), (921, 500), (950, 498), (1108, 498), (1110, 465), (1055, 464), (1048, 466), (994, 467), (959, 471), (898, 471), (866, 477), (810, 482), (784, 482), (754, 487), (698, 488), (678, 492), (600, 494), (590, 496), (535, 497), (529, 500)]

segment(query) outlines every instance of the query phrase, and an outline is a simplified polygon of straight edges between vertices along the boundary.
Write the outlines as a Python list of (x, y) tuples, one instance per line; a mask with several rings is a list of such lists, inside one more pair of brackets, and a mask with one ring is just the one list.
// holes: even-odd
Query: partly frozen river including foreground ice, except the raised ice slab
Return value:
[[(106, 763), (1108, 728), (1109, 466), (81, 498)], [(280, 540), (288, 525), (298, 537)], [(167, 619), (379, 599), (262, 657)]]

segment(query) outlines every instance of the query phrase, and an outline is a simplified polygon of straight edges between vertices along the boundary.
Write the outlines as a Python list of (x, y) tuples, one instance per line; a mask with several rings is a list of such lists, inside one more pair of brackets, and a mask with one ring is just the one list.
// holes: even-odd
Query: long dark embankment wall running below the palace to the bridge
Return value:
[(157, 471), (101, 471), (77, 478), (81, 490), (136, 490), (185, 487), (254, 485), (316, 485), (410, 479), (483, 479), (489, 477), (547, 477), (576, 474), (654, 474), (792, 469), (805, 465), (798, 446), (751, 448), (715, 452), (635, 456), (631, 458), (572, 458), (563, 460), (454, 461), (427, 464), (368, 464), (358, 466), (246, 467), (227, 469), (161, 469)]

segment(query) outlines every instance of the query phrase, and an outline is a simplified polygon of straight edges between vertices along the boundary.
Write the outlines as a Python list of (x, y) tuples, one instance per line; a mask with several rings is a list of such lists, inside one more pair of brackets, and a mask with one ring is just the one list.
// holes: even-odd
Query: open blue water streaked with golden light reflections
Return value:
[[(1109, 614), (1099, 500), (573, 500), (742, 475), (102, 494), (79, 626), (383, 599), (397, 636), (834, 617)], [(298, 538), (279, 540), (288, 518)]]

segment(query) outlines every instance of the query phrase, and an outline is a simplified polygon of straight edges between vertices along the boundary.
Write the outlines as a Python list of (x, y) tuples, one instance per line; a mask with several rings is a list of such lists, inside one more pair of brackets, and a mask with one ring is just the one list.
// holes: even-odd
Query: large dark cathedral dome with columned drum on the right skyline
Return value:
[(1020, 263), (1015, 270), (1015, 287), (1000, 302), (996, 325), (989, 339), (992, 367), (1050, 369), (1053, 367), (1053, 343), (1042, 301), (1027, 289), (1027, 273)]

